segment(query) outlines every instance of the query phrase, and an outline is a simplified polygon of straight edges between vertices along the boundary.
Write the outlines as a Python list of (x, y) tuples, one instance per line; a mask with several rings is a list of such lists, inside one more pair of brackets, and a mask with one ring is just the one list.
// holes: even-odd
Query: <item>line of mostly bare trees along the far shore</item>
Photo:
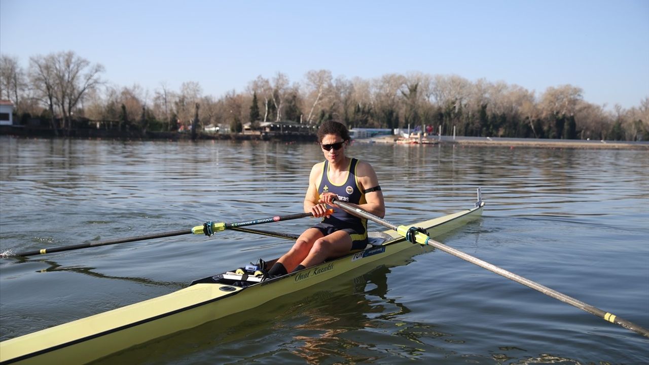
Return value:
[(291, 82), (277, 72), (256, 77), (242, 92), (204, 95), (199, 82), (171, 90), (138, 84), (116, 86), (101, 79), (104, 67), (72, 51), (36, 55), (27, 69), (16, 57), (0, 56), (0, 99), (25, 121), (40, 118), (66, 131), (74, 121), (93, 121), (139, 131), (177, 131), (198, 123), (241, 131), (250, 123), (294, 121), (319, 125), (336, 120), (349, 127), (406, 128), (431, 125), (459, 136), (649, 140), (649, 96), (638, 107), (594, 105), (569, 84), (542, 94), (522, 86), (458, 75), (390, 73), (376, 79), (334, 77), (326, 69), (308, 71)]

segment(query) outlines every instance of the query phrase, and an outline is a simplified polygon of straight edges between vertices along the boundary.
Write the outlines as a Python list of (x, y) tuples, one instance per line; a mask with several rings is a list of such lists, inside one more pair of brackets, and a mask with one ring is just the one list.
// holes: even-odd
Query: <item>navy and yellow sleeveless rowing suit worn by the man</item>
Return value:
[[(324, 160), (323, 176), (318, 186), (318, 194), (320, 195), (326, 192), (334, 193), (338, 195), (339, 201), (344, 201), (345, 203), (367, 203), (367, 201), (365, 201), (365, 192), (363, 192), (363, 189), (358, 184), (356, 166), (358, 166), (358, 160), (356, 158), (351, 158), (347, 168), (347, 179), (345, 179), (342, 184), (336, 185), (329, 181), (329, 161)], [(367, 220), (352, 216), (352, 214), (349, 214), (340, 208), (334, 209), (334, 214), (331, 216), (332, 218), (337, 218), (337, 220), (344, 221), (350, 225), (360, 224), (363, 227), (367, 227)], [(325, 218), (323, 221), (326, 222), (327, 219)]]

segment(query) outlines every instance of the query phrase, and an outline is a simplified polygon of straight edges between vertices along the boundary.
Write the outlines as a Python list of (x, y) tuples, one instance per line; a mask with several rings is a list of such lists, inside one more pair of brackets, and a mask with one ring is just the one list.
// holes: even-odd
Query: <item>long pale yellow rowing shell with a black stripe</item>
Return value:
[[(478, 201), (474, 208), (414, 225), (426, 229), (435, 238), (478, 218), (483, 207), (484, 202)], [(385, 241), (275, 279), (262, 281), (252, 275), (236, 276), (228, 271), (194, 281), (188, 288), (165, 296), (0, 342), (0, 364), (85, 364), (167, 334), (258, 307), (360, 266), (376, 265), (376, 261), (413, 246), (393, 230), (373, 236), (383, 237)]]

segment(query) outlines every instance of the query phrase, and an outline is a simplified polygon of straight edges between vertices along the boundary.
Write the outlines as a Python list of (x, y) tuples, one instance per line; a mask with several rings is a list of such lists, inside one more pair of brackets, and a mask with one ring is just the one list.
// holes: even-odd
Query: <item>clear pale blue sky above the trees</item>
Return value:
[(196, 81), (242, 92), (258, 75), (456, 74), (541, 94), (583, 88), (590, 103), (649, 96), (649, 0), (0, 0), (0, 53), (71, 50), (103, 79), (153, 90)]

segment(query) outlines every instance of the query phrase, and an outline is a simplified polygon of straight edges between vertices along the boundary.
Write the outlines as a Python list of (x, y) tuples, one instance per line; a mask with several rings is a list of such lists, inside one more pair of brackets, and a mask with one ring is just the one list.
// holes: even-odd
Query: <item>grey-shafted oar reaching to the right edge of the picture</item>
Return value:
[(504, 270), (503, 268), (499, 268), (498, 266), (495, 266), (493, 264), (489, 264), (489, 262), (486, 262), (484, 260), (480, 260), (480, 258), (473, 257), (471, 255), (468, 255), (467, 253), (463, 253), (462, 251), (459, 251), (458, 249), (454, 249), (452, 247), (448, 247), (445, 244), (441, 244), (440, 242), (437, 242), (435, 240), (432, 240), (428, 236), (428, 234), (422, 233), (421, 231), (418, 231), (419, 229), (417, 227), (406, 227), (405, 225), (400, 225), (397, 227), (397, 225), (393, 225), (389, 221), (383, 220), (382, 218), (379, 218), (377, 216), (374, 216), (374, 214), (371, 214), (369, 212), (365, 212), (365, 210), (362, 210), (358, 207), (353, 207), (352, 205), (349, 205), (347, 203), (343, 203), (341, 201), (334, 201), (334, 204), (337, 205), (340, 208), (343, 208), (350, 214), (354, 214), (360, 218), (365, 218), (367, 220), (374, 221), (380, 225), (384, 225), (385, 227), (389, 229), (394, 229), (397, 231), (399, 234), (402, 236), (415, 240), (418, 244), (421, 245), (432, 245), (433, 247), (437, 249), (441, 249), (441, 251), (444, 251), (446, 253), (450, 253), (451, 255), (455, 257), (459, 257), (462, 260), (466, 260), (471, 262), (472, 264), (475, 264), (477, 266), (480, 266), (481, 268), (485, 268), (489, 271), (492, 271), (494, 273), (497, 273), (498, 275), (501, 275), (503, 277), (506, 277), (507, 279), (511, 279), (519, 284), (523, 284), (525, 286), (528, 286), (534, 290), (537, 290), (538, 292), (541, 292), (545, 294), (546, 296), (553, 297), (554, 299), (559, 299), (560, 301), (563, 301), (565, 303), (568, 303), (569, 305), (572, 305), (574, 307), (580, 308), (581, 310), (585, 310), (586, 312), (589, 312), (591, 314), (594, 314), (595, 316), (598, 316), (600, 318), (604, 318), (604, 320), (609, 321), (611, 323), (615, 323), (617, 325), (620, 325), (626, 329), (630, 329), (631, 331), (635, 333), (642, 334), (645, 337), (649, 337), (649, 331), (647, 329), (644, 329), (643, 327), (632, 323), (627, 320), (623, 320), (622, 318), (619, 318), (615, 314), (611, 314), (609, 312), (604, 312), (604, 310), (601, 310), (599, 308), (595, 308), (592, 305), (588, 305), (586, 303), (583, 303), (582, 301), (579, 301), (577, 299), (574, 299), (573, 297), (569, 297), (565, 294), (559, 293), (556, 290), (550, 289), (547, 286), (543, 286), (539, 283), (535, 283), (529, 279), (525, 279), (524, 277), (521, 277), (519, 275), (516, 275), (515, 273), (512, 273), (511, 271)]

